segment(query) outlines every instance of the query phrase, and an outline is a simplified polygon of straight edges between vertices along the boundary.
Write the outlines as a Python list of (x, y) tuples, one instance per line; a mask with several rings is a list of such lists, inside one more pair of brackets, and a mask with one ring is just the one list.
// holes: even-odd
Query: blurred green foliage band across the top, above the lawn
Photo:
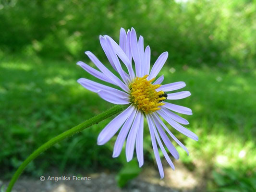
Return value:
[(8, 29), (0, 30), (2, 52), (77, 59), (85, 50), (100, 53), (99, 35), (118, 39), (120, 27), (133, 26), (154, 57), (170, 53), (170, 64), (255, 66), (255, 0), (0, 2), (0, 28)]

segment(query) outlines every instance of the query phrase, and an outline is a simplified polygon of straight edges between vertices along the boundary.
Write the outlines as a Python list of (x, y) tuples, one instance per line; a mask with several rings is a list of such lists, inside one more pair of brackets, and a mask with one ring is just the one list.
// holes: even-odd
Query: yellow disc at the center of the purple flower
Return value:
[(159, 106), (164, 105), (161, 101), (166, 97), (163, 96), (164, 91), (156, 91), (160, 84), (151, 84), (155, 78), (148, 81), (147, 76), (136, 77), (130, 84), (131, 102), (143, 112), (150, 113), (159, 110)]

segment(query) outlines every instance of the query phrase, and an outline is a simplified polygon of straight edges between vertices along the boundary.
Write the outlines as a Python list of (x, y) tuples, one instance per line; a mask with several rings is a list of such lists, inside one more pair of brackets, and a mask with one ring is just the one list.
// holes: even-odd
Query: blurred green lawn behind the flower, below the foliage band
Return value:
[[(163, 84), (184, 81), (187, 86), (182, 90), (192, 93), (174, 103), (192, 108), (193, 115), (183, 117), (189, 120), (187, 127), (198, 135), (199, 141), (188, 139), (169, 126), (190, 151), (187, 157), (178, 147), (180, 160), (195, 168), (215, 170), (215, 176), (229, 168), (250, 178), (256, 171), (256, 71), (167, 64), (160, 73), (165, 75)], [(112, 106), (78, 84), (80, 77), (96, 80), (73, 61), (21, 56), (1, 60), (0, 167), (5, 178), (10, 178), (38, 146)], [(107, 122), (56, 144), (31, 163), (26, 172), (38, 175), (50, 167), (116, 170), (121, 162), (111, 157), (115, 139), (103, 146), (96, 144), (98, 133)], [(151, 159), (152, 153), (149, 138), (145, 131), (146, 160)], [(214, 178), (209, 188), (221, 186)]]

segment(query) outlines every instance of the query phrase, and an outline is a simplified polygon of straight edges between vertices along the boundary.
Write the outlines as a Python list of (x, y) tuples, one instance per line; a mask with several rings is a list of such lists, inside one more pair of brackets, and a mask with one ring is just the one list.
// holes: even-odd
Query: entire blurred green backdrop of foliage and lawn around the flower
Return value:
[[(0, 0), (1, 178), (53, 136), (112, 106), (76, 82), (96, 79), (75, 63), (93, 66), (90, 50), (110, 66), (99, 35), (119, 41), (121, 27), (144, 36), (152, 62), (168, 51), (163, 84), (184, 81), (192, 93), (174, 103), (193, 110), (183, 117), (199, 141), (169, 127), (190, 151), (177, 147), (179, 161), (204, 178), (205, 191), (255, 191), (256, 0)], [(123, 156), (111, 157), (115, 138), (96, 144), (109, 120), (54, 145), (25, 173), (125, 172)], [(155, 164), (146, 130), (144, 169)]]

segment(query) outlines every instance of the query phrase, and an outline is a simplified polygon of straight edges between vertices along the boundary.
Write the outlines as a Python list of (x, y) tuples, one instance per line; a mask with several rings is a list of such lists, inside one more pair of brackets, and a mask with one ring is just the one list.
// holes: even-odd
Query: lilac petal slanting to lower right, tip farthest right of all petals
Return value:
[(187, 137), (194, 139), (195, 141), (198, 141), (198, 137), (196, 136), (196, 134), (188, 129), (186, 129), (185, 127), (183, 127), (182, 125), (180, 125), (179, 123), (177, 123), (176, 121), (172, 120), (170, 117), (168, 117), (163, 111), (158, 110), (157, 112), (160, 116), (162, 116), (162, 118), (164, 118), (174, 129), (176, 129), (177, 131), (183, 133), (184, 135), (186, 135)]

